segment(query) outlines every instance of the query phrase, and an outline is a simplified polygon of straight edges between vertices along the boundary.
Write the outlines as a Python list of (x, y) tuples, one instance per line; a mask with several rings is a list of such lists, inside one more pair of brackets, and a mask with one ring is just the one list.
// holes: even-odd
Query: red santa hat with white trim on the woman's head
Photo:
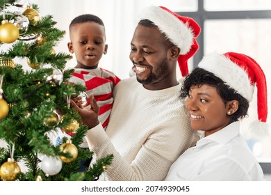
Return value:
[(266, 122), (268, 116), (268, 94), (265, 74), (260, 65), (245, 54), (228, 52), (209, 54), (199, 63), (199, 68), (213, 72), (225, 84), (236, 90), (249, 102), (252, 101), (254, 86), (257, 86), (258, 120)]

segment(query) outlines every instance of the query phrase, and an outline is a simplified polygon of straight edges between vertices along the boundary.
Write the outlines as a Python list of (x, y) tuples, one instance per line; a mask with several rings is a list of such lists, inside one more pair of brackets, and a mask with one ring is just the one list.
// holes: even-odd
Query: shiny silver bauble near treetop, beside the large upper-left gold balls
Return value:
[(19, 11), (15, 13), (12, 17), (10, 17), (10, 23), (17, 26), (19, 29), (19, 34), (23, 35), (28, 30), (29, 20), (26, 16), (22, 15)]

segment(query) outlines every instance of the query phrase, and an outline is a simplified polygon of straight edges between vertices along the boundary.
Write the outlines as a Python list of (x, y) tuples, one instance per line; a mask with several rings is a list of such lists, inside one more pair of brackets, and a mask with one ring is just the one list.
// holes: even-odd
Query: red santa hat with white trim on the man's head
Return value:
[(145, 9), (140, 16), (140, 20), (150, 20), (158, 29), (165, 33), (167, 38), (181, 49), (178, 63), (181, 75), (188, 75), (188, 59), (192, 57), (199, 49), (197, 36), (200, 33), (200, 27), (195, 20), (190, 17), (177, 15), (165, 7), (150, 6)]

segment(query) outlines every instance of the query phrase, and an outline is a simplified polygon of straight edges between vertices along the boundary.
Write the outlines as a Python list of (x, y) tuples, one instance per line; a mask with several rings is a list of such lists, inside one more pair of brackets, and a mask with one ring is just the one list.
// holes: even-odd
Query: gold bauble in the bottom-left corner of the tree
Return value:
[(14, 181), (21, 173), (21, 169), (14, 159), (8, 158), (8, 162), (4, 162), (0, 168), (0, 176), (4, 181)]

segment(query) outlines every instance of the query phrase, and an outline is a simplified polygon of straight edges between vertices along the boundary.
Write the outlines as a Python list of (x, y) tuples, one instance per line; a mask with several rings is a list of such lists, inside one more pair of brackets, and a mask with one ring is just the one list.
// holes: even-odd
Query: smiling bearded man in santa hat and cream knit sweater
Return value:
[(86, 139), (94, 160), (114, 155), (104, 179), (163, 180), (176, 158), (195, 143), (188, 111), (179, 98), (176, 63), (187, 75), (199, 31), (191, 18), (164, 7), (147, 8), (131, 40), (136, 77), (120, 81), (114, 89), (106, 132), (97, 119), (99, 107), (93, 95), (87, 111), (72, 101), (90, 128)]

